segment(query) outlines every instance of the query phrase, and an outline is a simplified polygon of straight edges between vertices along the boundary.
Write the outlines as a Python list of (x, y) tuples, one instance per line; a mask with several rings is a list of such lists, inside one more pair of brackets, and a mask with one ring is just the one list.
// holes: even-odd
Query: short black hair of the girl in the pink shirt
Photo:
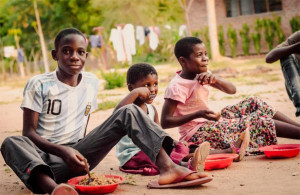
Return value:
[(174, 48), (174, 53), (176, 58), (178, 60), (181, 56), (185, 58), (189, 58), (191, 53), (193, 53), (194, 45), (201, 44), (201, 43), (203, 42), (201, 41), (201, 39), (197, 37), (184, 37), (180, 39), (175, 44), (175, 48)]

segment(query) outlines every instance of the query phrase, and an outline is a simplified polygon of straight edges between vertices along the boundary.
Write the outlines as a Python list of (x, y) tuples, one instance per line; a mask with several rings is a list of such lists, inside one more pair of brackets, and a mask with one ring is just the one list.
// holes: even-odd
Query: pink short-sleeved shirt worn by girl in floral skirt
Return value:
[[(208, 108), (209, 90), (207, 86), (200, 85), (196, 80), (183, 79), (177, 72), (166, 88), (164, 98), (176, 100), (179, 103), (174, 116), (183, 116), (199, 110)], [(197, 118), (179, 127), (180, 140), (188, 141), (193, 134), (206, 121), (204, 118)]]

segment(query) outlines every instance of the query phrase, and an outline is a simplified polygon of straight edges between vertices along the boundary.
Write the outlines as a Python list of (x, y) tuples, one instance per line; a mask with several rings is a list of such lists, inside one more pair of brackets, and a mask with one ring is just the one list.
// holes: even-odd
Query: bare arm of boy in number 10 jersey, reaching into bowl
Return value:
[(44, 152), (61, 157), (74, 171), (82, 172), (85, 169), (85, 159), (77, 150), (54, 144), (36, 133), (39, 113), (28, 108), (23, 112), (23, 136), (28, 137), (38, 148)]

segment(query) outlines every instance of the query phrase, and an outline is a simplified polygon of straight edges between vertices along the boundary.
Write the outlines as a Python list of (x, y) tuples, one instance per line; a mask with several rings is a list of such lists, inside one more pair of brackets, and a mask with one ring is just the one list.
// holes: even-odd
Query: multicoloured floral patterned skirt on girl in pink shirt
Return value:
[[(208, 141), (214, 149), (226, 149), (238, 140), (240, 133), (250, 124), (250, 143), (247, 154), (260, 153), (258, 148), (277, 144), (273, 116), (275, 109), (258, 97), (248, 97), (221, 111), (219, 121), (207, 121), (190, 138), (189, 142), (201, 144)], [(247, 117), (249, 116), (247, 121)]]

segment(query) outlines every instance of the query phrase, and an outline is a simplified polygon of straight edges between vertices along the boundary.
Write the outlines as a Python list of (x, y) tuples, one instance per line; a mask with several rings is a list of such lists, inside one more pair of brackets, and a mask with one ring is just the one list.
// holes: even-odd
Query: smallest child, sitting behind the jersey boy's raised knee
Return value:
[[(157, 110), (152, 105), (158, 92), (158, 74), (155, 68), (145, 63), (132, 65), (127, 71), (127, 85), (130, 93), (116, 106), (115, 110), (128, 104), (135, 104), (151, 120), (160, 125)], [(170, 145), (166, 151), (175, 163), (202, 172), (204, 171), (204, 161), (209, 154), (209, 149), (208, 142), (201, 144), (188, 163), (182, 162), (182, 159), (189, 154), (186, 142), (173, 140), (173, 145)], [(158, 167), (128, 136), (124, 136), (116, 145), (116, 155), (120, 161), (119, 169), (123, 172), (142, 175), (159, 174)]]

